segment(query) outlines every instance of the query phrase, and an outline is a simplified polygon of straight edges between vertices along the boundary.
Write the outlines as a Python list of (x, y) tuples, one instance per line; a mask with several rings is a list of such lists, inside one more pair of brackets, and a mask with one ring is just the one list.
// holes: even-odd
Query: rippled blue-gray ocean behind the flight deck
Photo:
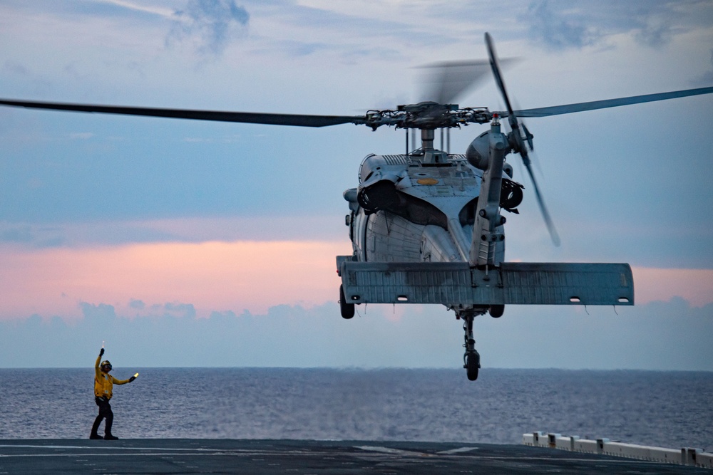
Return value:
[[(485, 368), (476, 382), (464, 370), (138, 372), (114, 387), (121, 438), (520, 444), (523, 433), (543, 430), (713, 450), (713, 372)], [(93, 377), (93, 367), (0, 369), (0, 439), (87, 438)]]

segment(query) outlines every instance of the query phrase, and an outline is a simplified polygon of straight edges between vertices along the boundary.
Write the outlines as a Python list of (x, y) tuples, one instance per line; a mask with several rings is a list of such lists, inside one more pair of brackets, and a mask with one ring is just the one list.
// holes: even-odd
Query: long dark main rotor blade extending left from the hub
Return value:
[(361, 117), (347, 117), (344, 115), (294, 115), (227, 112), (220, 110), (133, 108), (118, 105), (46, 103), (7, 99), (0, 99), (0, 105), (47, 110), (71, 110), (84, 113), (142, 115), (174, 119), (215, 120), (218, 122), (245, 122), (250, 124), (297, 125), (299, 127), (325, 127), (327, 125), (359, 122), (359, 120), (363, 123), (364, 120), (364, 118)]

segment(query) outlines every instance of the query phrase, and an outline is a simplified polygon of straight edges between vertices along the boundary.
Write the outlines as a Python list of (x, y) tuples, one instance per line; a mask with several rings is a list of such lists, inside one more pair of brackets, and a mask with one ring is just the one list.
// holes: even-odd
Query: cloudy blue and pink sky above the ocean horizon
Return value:
[[(359, 115), (486, 31), (515, 108), (713, 85), (710, 1), (4, 0), (0, 97)], [(503, 109), (491, 78), (458, 103)], [(527, 121), (562, 244), (509, 157), (506, 260), (630, 263), (636, 305), (478, 318), (483, 367), (713, 370), (711, 124), (713, 95)], [(339, 316), (342, 192), (401, 130), (0, 108), (0, 144), (0, 367), (462, 364), (441, 306)]]

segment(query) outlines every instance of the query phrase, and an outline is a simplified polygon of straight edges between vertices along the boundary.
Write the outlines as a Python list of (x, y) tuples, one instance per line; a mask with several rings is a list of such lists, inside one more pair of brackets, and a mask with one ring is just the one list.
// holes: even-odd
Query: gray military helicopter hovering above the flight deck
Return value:
[[(337, 256), (342, 278), (342, 317), (367, 303), (438, 303), (463, 320), (463, 367), (478, 378), (480, 355), (473, 320), (503, 315), (506, 305), (634, 304), (627, 263), (511, 263), (505, 260), (506, 216), (517, 214), (525, 188), (513, 177), (507, 155), (520, 155), (553, 244), (559, 237), (535, 181), (533, 134), (520, 118), (538, 118), (621, 105), (713, 93), (713, 87), (637, 95), (588, 103), (513, 110), (493, 39), (485, 34), (490, 71), (506, 110), (461, 108), (448, 100), (369, 110), (365, 115), (287, 115), (215, 110), (134, 108), (0, 99), (0, 105), (85, 113), (325, 127), (340, 124), (405, 129), (404, 154), (367, 155), (359, 184), (344, 192), (351, 256)], [(440, 97), (447, 97), (441, 95)], [(509, 130), (503, 130), (503, 123)], [(434, 147), (436, 130), (490, 124), (464, 154)], [(409, 151), (409, 130), (420, 130), (421, 147)], [(442, 137), (442, 135), (441, 135)], [(441, 143), (443, 140), (441, 140)], [(449, 147), (448, 147), (449, 148)]]

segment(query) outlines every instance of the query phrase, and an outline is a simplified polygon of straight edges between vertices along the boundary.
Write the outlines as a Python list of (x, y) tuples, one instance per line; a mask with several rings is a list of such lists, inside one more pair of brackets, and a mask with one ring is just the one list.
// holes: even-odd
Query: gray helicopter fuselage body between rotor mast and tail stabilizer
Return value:
[[(512, 173), (509, 165), (505, 170)], [(468, 261), (482, 179), (483, 170), (466, 155), (440, 150), (368, 155), (359, 169), (359, 187), (344, 192), (353, 259)], [(499, 241), (496, 263), (504, 254), (505, 241)]]

